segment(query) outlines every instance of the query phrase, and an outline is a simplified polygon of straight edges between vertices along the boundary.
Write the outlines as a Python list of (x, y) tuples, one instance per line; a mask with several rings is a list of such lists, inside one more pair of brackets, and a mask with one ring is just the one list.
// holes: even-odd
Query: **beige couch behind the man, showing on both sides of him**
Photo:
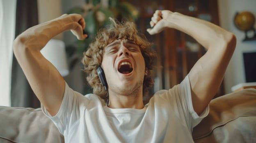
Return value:
[[(192, 135), (195, 143), (256, 143), (256, 89), (212, 100)], [(64, 143), (64, 138), (40, 108), (0, 107), (0, 143)]]

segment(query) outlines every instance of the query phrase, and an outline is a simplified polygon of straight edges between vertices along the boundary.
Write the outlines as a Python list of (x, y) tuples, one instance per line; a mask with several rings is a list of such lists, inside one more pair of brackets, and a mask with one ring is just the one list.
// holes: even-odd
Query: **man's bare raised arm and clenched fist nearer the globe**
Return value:
[(150, 25), (154, 27), (147, 29), (149, 34), (174, 28), (192, 36), (208, 49), (188, 74), (193, 107), (195, 112), (200, 114), (214, 97), (223, 80), (235, 50), (235, 36), (213, 23), (167, 10), (155, 11)]

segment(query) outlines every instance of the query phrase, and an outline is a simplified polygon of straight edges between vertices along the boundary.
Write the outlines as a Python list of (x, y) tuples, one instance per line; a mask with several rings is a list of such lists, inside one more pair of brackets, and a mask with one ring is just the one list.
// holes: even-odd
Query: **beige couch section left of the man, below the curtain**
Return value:
[(64, 137), (41, 108), (0, 106), (0, 142), (64, 143)]

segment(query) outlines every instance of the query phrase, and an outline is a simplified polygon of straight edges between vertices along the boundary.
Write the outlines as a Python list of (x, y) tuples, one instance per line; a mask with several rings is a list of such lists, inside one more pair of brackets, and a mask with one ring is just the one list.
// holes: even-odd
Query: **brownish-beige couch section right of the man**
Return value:
[(194, 127), (192, 135), (195, 143), (255, 143), (256, 89), (213, 99), (209, 115)]

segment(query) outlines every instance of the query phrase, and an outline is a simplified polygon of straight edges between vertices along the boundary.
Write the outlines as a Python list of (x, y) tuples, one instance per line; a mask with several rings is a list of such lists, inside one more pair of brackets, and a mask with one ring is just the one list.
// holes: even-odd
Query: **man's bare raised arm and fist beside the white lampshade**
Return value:
[(87, 37), (82, 34), (84, 28), (85, 20), (82, 16), (64, 14), (27, 29), (14, 40), (14, 55), (37, 98), (52, 116), (57, 114), (62, 103), (65, 82), (40, 50), (51, 38), (67, 30), (71, 30), (78, 39), (83, 40)]

